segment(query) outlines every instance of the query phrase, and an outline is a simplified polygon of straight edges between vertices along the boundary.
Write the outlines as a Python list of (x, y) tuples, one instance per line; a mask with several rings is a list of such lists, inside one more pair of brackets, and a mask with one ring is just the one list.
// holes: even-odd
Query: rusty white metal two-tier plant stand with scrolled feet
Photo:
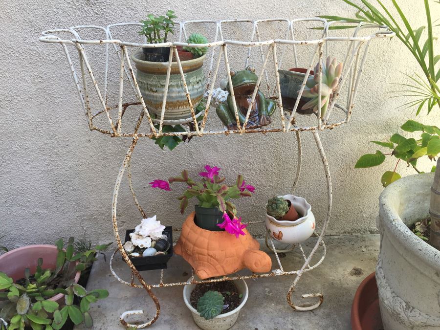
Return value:
[[(238, 24), (249, 25), (251, 29), (251, 30), (249, 29), (249, 31), (251, 31), (251, 33), (250, 33), (250, 38), (248, 40), (238, 41), (238, 40), (226, 38), (224, 33), (224, 28), (226, 26), (228, 27), (234, 25), (238, 26)], [(279, 26), (281, 26), (282, 27), (281, 31), (284, 31), (283, 39), (267, 40), (267, 38), (262, 37), (261, 26), (262, 25), (267, 26), (267, 24), (268, 25), (278, 24)], [(308, 38), (308, 40), (298, 40), (298, 38), (295, 38), (295, 36), (298, 35), (297, 34), (298, 31), (308, 32), (308, 30), (305, 28), (306, 24), (314, 24), (314, 28), (315, 29), (318, 28), (319, 37), (317, 37), (316, 39)], [(116, 238), (118, 248), (114, 251), (111, 257), (110, 269), (119, 282), (132, 287), (144, 288), (154, 301), (154, 304), (156, 306), (156, 313), (154, 317), (150, 318), (149, 322), (134, 325), (128, 323), (126, 321), (126, 317), (132, 314), (142, 314), (143, 311), (142, 310), (127, 311), (121, 315), (120, 317), (121, 323), (125, 326), (130, 326), (140, 329), (152, 325), (157, 320), (160, 313), (160, 306), (156, 296), (152, 291), (153, 287), (179, 286), (179, 285), (181, 286), (190, 283), (197, 284), (197, 283), (216, 282), (216, 281), (235, 280), (235, 279), (264, 278), (264, 277), (281, 276), (281, 275), (296, 275), (292, 285), (290, 286), (287, 292), (287, 302), (293, 309), (299, 311), (306, 311), (319, 307), (324, 299), (321, 293), (303, 294), (302, 298), (306, 298), (306, 299), (317, 298), (316, 303), (312, 305), (309, 304), (308, 306), (295, 305), (291, 297), (301, 276), (305, 272), (308, 272), (314, 269), (315, 267), (317, 267), (319, 264), (321, 264), (326, 255), (326, 246), (324, 244), (323, 238), (330, 220), (332, 190), (331, 190), (331, 178), (330, 178), (329, 166), (318, 132), (325, 129), (333, 129), (341, 124), (349, 122), (350, 116), (352, 114), (352, 109), (354, 107), (354, 101), (356, 99), (356, 94), (359, 87), (362, 70), (366, 62), (367, 52), (371, 41), (378, 38), (392, 37), (394, 36), (394, 34), (388, 31), (386, 26), (377, 26), (371, 24), (356, 25), (353, 26), (352, 30), (346, 30), (346, 29), (333, 30), (331, 29), (331, 27), (334, 26), (335, 23), (327, 22), (326, 20), (323, 19), (313, 18), (313, 19), (295, 19), (295, 20), (287, 20), (287, 19), (266, 19), (266, 20), (257, 20), (257, 21), (200, 20), (200, 21), (180, 22), (178, 41), (168, 42), (163, 44), (146, 44), (145, 40), (139, 43), (126, 42), (123, 41), (122, 39), (116, 39), (113, 37), (116, 33), (115, 32), (116, 30), (124, 31), (128, 29), (136, 28), (139, 25), (141, 24), (132, 22), (132, 23), (111, 24), (106, 27), (94, 26), (94, 25), (72, 26), (66, 29), (55, 29), (55, 30), (44, 31), (43, 36), (40, 37), (40, 41), (44, 43), (62, 45), (66, 53), (67, 62), (70, 66), (77, 91), (80, 96), (80, 101), (83, 110), (85, 111), (85, 114), (87, 116), (89, 129), (91, 131), (95, 130), (105, 134), (109, 134), (110, 136), (113, 137), (132, 138), (132, 142), (130, 144), (129, 150), (125, 155), (122, 166), (116, 178), (116, 183), (113, 191), (111, 213), (112, 213), (114, 235)], [(208, 26), (208, 28), (211, 28), (214, 35), (213, 41), (208, 44), (185, 43), (184, 41), (188, 37), (187, 30), (189, 29), (189, 26), (200, 26), (200, 25), (205, 25)], [(339, 33), (332, 35), (332, 31), (336, 31)], [(340, 36), (339, 35), (340, 31), (350, 31), (350, 35)], [(93, 32), (95, 34), (99, 33), (101, 34), (102, 37), (99, 38), (95, 37), (93, 39), (88, 39), (87, 37), (84, 37), (84, 34), (87, 34), (86, 32), (88, 33)], [(97, 60), (97, 57), (89, 54), (89, 49), (92, 46), (94, 46), (95, 49), (96, 47), (99, 47), (99, 49), (102, 50), (101, 54), (104, 54), (104, 57), (101, 61)], [(162, 129), (164, 124), (169, 123), (167, 121), (164, 121), (167, 93), (164, 92), (163, 95), (162, 112), (160, 118), (154, 118), (154, 116), (151, 115), (151, 113), (149, 112), (149, 110), (145, 105), (145, 102), (142, 98), (139, 86), (136, 81), (136, 75), (132, 67), (132, 59), (130, 56), (130, 51), (132, 49), (138, 50), (141, 49), (142, 47), (160, 47), (160, 46), (171, 47), (172, 50), (170, 52), (170, 60), (168, 61), (168, 63), (164, 64), (168, 68), (167, 77), (166, 77), (167, 86), (170, 81), (171, 59), (173, 54), (175, 54), (176, 56), (177, 66), (179, 68), (181, 80), (183, 82), (183, 89), (184, 92), (186, 93), (188, 104), (191, 108), (191, 118), (189, 121), (192, 124), (194, 124), (194, 125), (185, 126), (185, 132), (163, 132)], [(203, 113), (204, 116), (200, 124), (198, 124), (196, 111), (194, 109), (196, 105), (192, 103), (188, 91), (188, 87), (186, 85), (185, 76), (183, 74), (183, 69), (176, 49), (177, 46), (209, 47), (210, 49), (208, 54), (210, 53), (211, 60), (209, 63), (209, 70), (207, 74), (206, 88), (205, 88), (205, 90), (208, 91), (208, 97), (207, 97), (206, 108), (204, 109), (204, 113)], [(71, 56), (70, 49), (73, 49), (73, 47), (76, 48), (77, 50), (78, 58), (76, 58), (75, 56), (75, 59), (72, 60), (73, 57)], [(208, 117), (213, 122), (216, 121), (217, 123), (220, 123), (220, 119), (217, 118), (215, 114), (211, 116), (213, 118), (211, 118), (209, 114), (213, 112), (212, 110), (210, 110), (211, 108), (210, 104), (213, 95), (213, 90), (216, 86), (216, 83), (218, 86), (218, 82), (220, 80), (218, 79), (219, 76), (218, 73), (219, 73), (219, 68), (223, 67), (220, 66), (221, 60), (223, 59), (223, 65), (226, 71), (225, 74), (227, 75), (229, 85), (232, 86), (228, 55), (230, 56), (231, 54), (230, 51), (231, 48), (234, 49), (238, 47), (245, 47), (244, 49), (247, 48), (246, 51), (247, 56), (244, 56), (245, 59), (243, 61), (244, 66), (247, 66), (249, 64), (249, 61), (251, 60), (253, 54), (252, 50), (254, 49), (256, 49), (258, 61), (261, 62), (259, 63), (260, 66), (256, 70), (256, 72), (258, 73), (258, 81), (254, 93), (252, 95), (251, 104), (249, 105), (249, 108), (247, 110), (246, 119), (243, 125), (241, 125), (239, 121), (238, 109), (235, 103), (235, 98), (232, 97), (238, 128), (233, 131), (228, 131), (226, 128), (208, 129), (209, 127), (207, 121)], [(281, 98), (281, 88), (279, 81), (280, 77), (279, 77), (278, 69), (280, 68), (286, 69), (286, 67), (283, 67), (283, 60), (286, 60), (286, 58), (290, 58), (294, 66), (298, 67), (299, 62), (301, 62), (301, 58), (304, 57), (303, 55), (301, 55), (302, 54), (301, 50), (304, 49), (305, 47), (311, 49), (310, 52), (311, 56), (309, 55), (306, 60), (307, 73), (304, 78), (302, 88), (299, 91), (299, 95), (296, 100), (294, 109), (291, 112), (285, 111), (283, 109), (283, 102)], [(316, 62), (319, 63), (322, 62), (321, 60), (324, 56), (323, 54), (325, 54), (325, 56), (327, 57), (327, 55), (332, 54), (333, 49), (338, 50), (339, 52), (341, 52), (342, 50), (342, 54), (344, 56), (343, 73), (340, 78), (337, 90), (334, 92), (334, 96), (330, 102), (329, 108), (325, 116), (321, 118), (321, 97), (319, 97), (318, 113), (316, 114), (316, 116), (311, 117), (311, 118), (316, 117), (316, 124), (314, 126), (309, 124), (303, 125), (301, 124), (302, 118), (300, 118), (302, 116), (297, 116), (296, 110), (299, 105), (300, 97), (305, 88), (308, 74), (312, 70)], [(281, 52), (280, 56), (278, 56), (279, 51)], [(73, 54), (75, 53), (76, 52), (73, 52)], [(272, 66), (271, 68), (269, 68), (268, 65), (270, 57), (272, 57), (272, 61), (273, 61), (273, 65), (271, 65)], [(93, 61), (97, 62), (97, 64), (94, 63)], [(118, 72), (117, 77), (115, 77), (115, 74), (112, 75), (110, 73), (110, 66), (112, 63), (116, 63), (117, 66), (116, 72)], [(96, 66), (93, 67), (94, 65)], [(78, 71), (81, 72), (80, 75), (77, 74)], [(321, 72), (322, 72), (322, 67), (320, 65), (318, 72), (319, 81), (321, 81)], [(101, 80), (96, 77), (97, 73), (99, 73), (102, 76)], [(110, 75), (110, 79), (109, 79), (109, 75)], [(274, 122), (271, 125), (264, 128), (247, 129), (246, 125), (249, 119), (252, 105), (255, 102), (257, 90), (258, 88), (262, 88), (262, 89), (264, 88), (264, 86), (261, 86), (263, 80), (265, 81), (265, 85), (267, 87), (267, 92), (265, 92), (265, 94), (269, 93), (270, 94), (269, 96), (271, 96), (277, 102), (279, 108), (279, 121), (275, 122), (274, 120)], [(115, 102), (114, 104), (109, 104), (110, 92), (108, 86), (110, 83), (112, 82), (114, 83), (116, 81), (118, 82), (118, 84), (114, 89), (118, 90), (117, 102)], [(129, 82), (131, 89), (128, 88), (127, 91), (126, 88), (124, 92), (124, 87), (125, 87), (124, 85), (126, 84), (127, 81)], [(92, 87), (89, 88), (88, 84), (91, 84)], [(165, 91), (166, 90), (167, 88), (165, 88)], [(231, 93), (231, 96), (234, 96), (233, 94), (234, 91), (232, 88), (229, 90), (229, 92)], [(319, 96), (321, 96), (321, 83), (319, 84)], [(345, 107), (341, 106), (340, 105), (341, 103), (336, 104), (336, 101), (338, 99), (341, 100), (342, 98), (345, 99)], [(95, 107), (97, 107), (97, 109), (94, 109)], [(139, 115), (136, 116), (137, 119), (127, 118), (127, 113), (132, 109), (140, 110)], [(334, 113), (333, 110), (335, 110)], [(330, 121), (330, 118), (337, 117), (336, 112), (339, 112), (340, 115), (339, 120)], [(274, 114), (273, 117), (275, 116), (276, 115)], [(107, 120), (99, 121), (99, 119), (102, 119), (103, 117), (104, 119)], [(148, 125), (142, 126), (141, 124), (144, 118), (147, 119)], [(154, 127), (154, 123), (159, 124), (158, 129)], [(252, 275), (248, 275), (248, 276), (240, 276), (240, 275), (233, 277), (224, 276), (221, 278), (200, 281), (195, 279), (193, 272), (190, 280), (188, 280), (187, 282), (164, 283), (163, 281), (164, 271), (162, 269), (160, 275), (160, 281), (158, 283), (151, 284), (151, 283), (147, 283), (146, 280), (144, 280), (143, 276), (136, 270), (136, 268), (133, 266), (132, 262), (130, 261), (129, 257), (127, 256), (126, 252), (124, 251), (121, 238), (119, 236), (119, 230), (118, 230), (117, 218), (116, 218), (118, 192), (125, 171), (127, 171), (128, 183), (130, 190), (132, 192), (134, 203), (139, 209), (142, 217), (144, 218), (147, 217), (134, 193), (132, 186), (131, 168), (130, 168), (130, 160), (132, 157), (132, 152), (136, 146), (136, 143), (138, 142), (139, 137), (157, 138), (161, 136), (173, 136), (173, 135), (203, 136), (203, 135), (213, 135), (213, 134), (229, 135), (230, 133), (243, 134), (243, 133), (271, 133), (271, 132), (293, 133), (294, 132), (298, 145), (298, 163), (296, 167), (296, 177), (292, 187), (292, 192), (293, 192), (296, 185), (298, 184), (298, 180), (301, 172), (302, 152), (301, 152), (300, 133), (303, 131), (310, 131), (313, 134), (318, 152), (322, 158), (322, 162), (324, 165), (324, 172), (326, 176), (326, 182), (327, 182), (328, 208), (327, 208), (326, 218), (322, 224), (320, 234), (316, 235), (318, 238), (315, 245), (311, 249), (311, 252), (307, 255), (307, 253), (303, 249), (303, 246), (299, 244), (298, 249), (302, 257), (304, 258), (304, 264), (300, 269), (294, 271), (284, 270), (283, 265), (281, 264), (280, 258), (278, 256), (278, 253), (292, 251), (294, 246), (290, 247), (287, 250), (279, 251), (275, 248), (272, 239), (266, 235), (266, 245), (274, 252), (277, 261), (277, 264), (275, 265), (275, 269), (273, 269), (269, 273), (265, 273), (265, 274), (253, 273)], [(264, 226), (264, 220), (251, 221), (248, 223), (251, 225)], [(310, 261), (312, 257), (315, 255), (315, 253), (318, 251), (318, 249), (321, 251), (322, 256), (316, 262), (316, 264), (310, 265)], [(128, 266), (132, 271), (132, 278), (130, 282), (121, 279), (114, 272), (112, 268), (113, 258), (118, 251), (121, 253), (124, 261), (128, 264)], [(138, 279), (140, 285), (134, 283), (134, 277)]]

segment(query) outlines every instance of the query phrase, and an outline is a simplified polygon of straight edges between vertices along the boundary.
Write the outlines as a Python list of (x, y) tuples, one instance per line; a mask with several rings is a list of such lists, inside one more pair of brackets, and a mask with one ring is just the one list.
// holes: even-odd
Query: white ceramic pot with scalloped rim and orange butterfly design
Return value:
[(270, 237), (278, 242), (296, 244), (306, 241), (315, 230), (315, 216), (306, 199), (293, 195), (280, 196), (296, 209), (300, 218), (294, 221), (276, 220), (266, 213), (266, 228)]

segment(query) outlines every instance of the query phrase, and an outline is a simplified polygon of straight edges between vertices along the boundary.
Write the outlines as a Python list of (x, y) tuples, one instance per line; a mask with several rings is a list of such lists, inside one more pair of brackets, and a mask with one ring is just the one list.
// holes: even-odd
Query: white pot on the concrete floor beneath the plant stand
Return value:
[(183, 300), (185, 301), (186, 307), (191, 310), (194, 322), (196, 322), (199, 328), (203, 330), (227, 330), (231, 328), (235, 322), (237, 322), (237, 319), (240, 315), (240, 309), (242, 309), (247, 301), (247, 297), (249, 296), (249, 290), (244, 280), (235, 280), (234, 284), (237, 286), (239, 293), (242, 294), (242, 301), (239, 307), (231, 310), (228, 313), (220, 314), (212, 320), (205, 320), (200, 316), (200, 313), (198, 313), (197, 309), (191, 306), (190, 296), (196, 285), (188, 284), (183, 286)]

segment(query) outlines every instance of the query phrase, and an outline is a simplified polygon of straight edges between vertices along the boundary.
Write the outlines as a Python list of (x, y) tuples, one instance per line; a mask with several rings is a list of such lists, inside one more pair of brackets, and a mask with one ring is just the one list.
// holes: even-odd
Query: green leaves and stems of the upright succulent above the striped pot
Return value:
[[(165, 16), (154, 16), (153, 14), (147, 15), (147, 20), (140, 21), (143, 25), (138, 34), (145, 35), (149, 44), (166, 43), (168, 33), (174, 34), (173, 27), (177, 16), (174, 15), (173, 10), (168, 10)], [(161, 37), (161, 31), (164, 32), (163, 38)]]

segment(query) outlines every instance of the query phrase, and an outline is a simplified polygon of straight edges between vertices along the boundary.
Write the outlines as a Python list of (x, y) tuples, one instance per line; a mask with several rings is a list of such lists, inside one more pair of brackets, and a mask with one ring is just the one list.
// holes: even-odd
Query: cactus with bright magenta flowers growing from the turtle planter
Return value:
[[(188, 207), (188, 201), (196, 197), (199, 207), (217, 207), (223, 212), (224, 221), (220, 224), (223, 227), (219, 225), (220, 228), (234, 234), (237, 238), (240, 235), (245, 235), (242, 229), (246, 225), (242, 224), (241, 218), (236, 218), (237, 208), (229, 200), (232, 198), (250, 197), (255, 192), (255, 187), (246, 184), (242, 175), (237, 176), (235, 184), (228, 186), (223, 182), (225, 178), (220, 176), (220, 167), (206, 165), (204, 168), (206, 171), (199, 173), (199, 176), (201, 176), (199, 182), (189, 178), (188, 171), (183, 170), (181, 176), (170, 177), (168, 181), (154, 180), (150, 184), (153, 188), (171, 190), (171, 183), (185, 182), (187, 189), (178, 198), (180, 200), (180, 213), (183, 214)], [(228, 213), (233, 215), (232, 220)]]

